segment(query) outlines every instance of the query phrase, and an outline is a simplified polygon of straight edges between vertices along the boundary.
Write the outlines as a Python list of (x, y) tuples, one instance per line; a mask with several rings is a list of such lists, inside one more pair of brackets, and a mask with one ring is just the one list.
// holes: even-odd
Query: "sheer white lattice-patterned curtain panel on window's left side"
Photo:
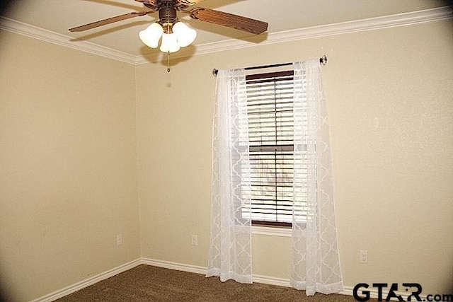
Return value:
[(219, 70), (212, 128), (212, 215), (207, 277), (252, 283), (246, 76)]

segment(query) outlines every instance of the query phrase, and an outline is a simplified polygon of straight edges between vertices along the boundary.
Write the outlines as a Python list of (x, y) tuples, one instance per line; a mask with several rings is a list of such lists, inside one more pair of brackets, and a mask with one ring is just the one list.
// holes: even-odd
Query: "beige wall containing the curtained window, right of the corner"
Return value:
[[(171, 74), (137, 66), (142, 257), (207, 265), (212, 68), (326, 54), (345, 286), (411, 281), (424, 294), (451, 291), (452, 30), (442, 21), (204, 54)], [(254, 274), (289, 278), (289, 248), (289, 238), (253, 236)], [(368, 250), (367, 265), (359, 250)]]

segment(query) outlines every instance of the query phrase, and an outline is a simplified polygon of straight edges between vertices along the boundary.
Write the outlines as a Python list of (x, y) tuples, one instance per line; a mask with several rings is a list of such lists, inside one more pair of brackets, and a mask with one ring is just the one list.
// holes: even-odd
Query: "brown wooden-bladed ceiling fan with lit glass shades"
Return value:
[(202, 0), (135, 0), (142, 3), (150, 11), (139, 11), (125, 13), (124, 15), (107, 18), (101, 21), (88, 23), (85, 25), (70, 28), (71, 32), (90, 30), (102, 25), (107, 25), (117, 21), (122, 21), (134, 17), (146, 16), (149, 13), (159, 11), (159, 21), (151, 24), (147, 29), (139, 33), (139, 37), (145, 45), (156, 48), (159, 46), (159, 40), (162, 37), (160, 50), (162, 52), (177, 52), (180, 47), (190, 45), (196, 37), (195, 30), (188, 28), (178, 20), (177, 11), (188, 13), (190, 18), (195, 20), (214, 23), (217, 25), (235, 28), (247, 33), (259, 35), (268, 30), (268, 23), (254, 20), (251, 18), (225, 13), (211, 8), (195, 7), (186, 10), (189, 6), (198, 4)]

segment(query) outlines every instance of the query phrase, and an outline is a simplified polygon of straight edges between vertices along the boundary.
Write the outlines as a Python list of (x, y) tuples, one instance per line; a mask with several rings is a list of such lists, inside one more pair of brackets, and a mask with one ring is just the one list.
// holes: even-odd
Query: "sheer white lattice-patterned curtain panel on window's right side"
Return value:
[[(294, 211), (290, 283), (316, 292), (343, 291), (333, 207), (331, 151), (319, 60), (294, 66)], [(297, 213), (297, 214), (296, 214)]]

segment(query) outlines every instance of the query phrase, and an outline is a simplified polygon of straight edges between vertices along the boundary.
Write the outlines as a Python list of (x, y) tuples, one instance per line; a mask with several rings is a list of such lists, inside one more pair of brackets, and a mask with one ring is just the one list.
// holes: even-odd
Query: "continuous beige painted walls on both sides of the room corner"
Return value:
[[(326, 54), (345, 285), (412, 281), (424, 294), (448, 291), (452, 27), (203, 54), (170, 74), (0, 32), (2, 285), (28, 301), (138, 257), (205, 267), (212, 68)], [(254, 274), (287, 279), (289, 247), (289, 238), (254, 235)], [(368, 250), (369, 264), (358, 263), (358, 250)]]

